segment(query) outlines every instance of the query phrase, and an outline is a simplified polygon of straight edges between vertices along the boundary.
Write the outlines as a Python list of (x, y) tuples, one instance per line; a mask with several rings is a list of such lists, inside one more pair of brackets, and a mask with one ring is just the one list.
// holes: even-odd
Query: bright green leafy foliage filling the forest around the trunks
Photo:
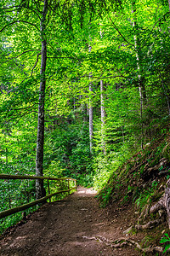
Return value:
[[(144, 165), (132, 173), (132, 183), (127, 174), (135, 168), (130, 158), (141, 146), (154, 145), (157, 137), (163, 141), (169, 134), (168, 4), (135, 1), (132, 12), (131, 1), (54, 3), (49, 3), (45, 30), (44, 175), (76, 177), (81, 185), (105, 187), (101, 190), (104, 206), (114, 194), (114, 177), (118, 192), (122, 183), (128, 183), (122, 201), (133, 195), (137, 206), (143, 207), (156, 183), (145, 190), (133, 183), (144, 176)], [(117, 8), (120, 3), (122, 9)], [(42, 9), (42, 1), (0, 3), (1, 173), (35, 174)], [(88, 90), (89, 74), (93, 92)], [(100, 96), (105, 123), (101, 122)], [(89, 98), (94, 107), (93, 154), (88, 138)], [(169, 159), (168, 140), (155, 148), (147, 154), (141, 151), (134, 161), (147, 158), (151, 167), (161, 157)], [(0, 184), (0, 210), (35, 197), (33, 182)], [(65, 186), (52, 182), (51, 191)]]

